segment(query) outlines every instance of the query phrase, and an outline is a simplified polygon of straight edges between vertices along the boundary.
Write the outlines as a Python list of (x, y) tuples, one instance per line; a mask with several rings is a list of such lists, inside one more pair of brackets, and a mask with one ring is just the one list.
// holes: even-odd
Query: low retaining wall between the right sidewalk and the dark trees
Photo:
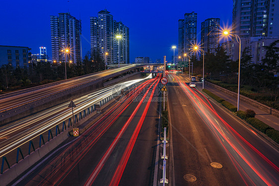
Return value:
[[(207, 85), (217, 89), (218, 91), (221, 91), (221, 92), (226, 93), (226, 94), (228, 94), (230, 96), (233, 96), (233, 97), (237, 97), (237, 93), (228, 91), (228, 90), (226, 90), (226, 89), (224, 89), (224, 88), (222, 88), (220, 86), (214, 85), (214, 84), (209, 83), (209, 82), (205, 82), (205, 83)], [(270, 114), (272, 114), (272, 115), (274, 115), (276, 117), (279, 117), (279, 110), (277, 110), (275, 108), (269, 107), (269, 106), (267, 106), (265, 104), (262, 104), (262, 103), (260, 103), (258, 101), (255, 101), (254, 99), (251, 99), (251, 98), (246, 97), (244, 95), (239, 95), (239, 99), (244, 101), (244, 102), (246, 102), (246, 103), (249, 103), (250, 105), (252, 105), (252, 106), (254, 106), (256, 108), (259, 108), (259, 109), (261, 109), (261, 110), (263, 110), (263, 111), (265, 111), (267, 113), (270, 113)]]

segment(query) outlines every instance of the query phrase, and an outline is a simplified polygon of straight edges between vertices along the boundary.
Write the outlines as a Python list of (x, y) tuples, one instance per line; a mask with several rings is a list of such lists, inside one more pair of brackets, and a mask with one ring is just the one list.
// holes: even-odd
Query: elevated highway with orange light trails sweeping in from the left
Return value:
[[(0, 95), (0, 126), (104, 87), (124, 74), (140, 73), (152, 64), (126, 65), (22, 91)], [(159, 66), (162, 64), (153, 64)]]

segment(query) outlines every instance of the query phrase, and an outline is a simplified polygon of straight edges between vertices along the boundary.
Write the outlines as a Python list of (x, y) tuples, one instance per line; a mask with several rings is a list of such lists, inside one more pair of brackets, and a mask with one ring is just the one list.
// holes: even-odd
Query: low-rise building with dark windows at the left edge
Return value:
[(0, 66), (10, 65), (13, 67), (27, 68), (28, 47), (0, 46)]

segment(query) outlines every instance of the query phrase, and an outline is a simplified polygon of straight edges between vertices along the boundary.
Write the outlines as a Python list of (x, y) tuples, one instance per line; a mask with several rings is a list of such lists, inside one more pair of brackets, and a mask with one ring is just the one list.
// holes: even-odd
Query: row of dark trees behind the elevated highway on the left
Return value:
[[(0, 68), (0, 94), (27, 89), (65, 79), (65, 63), (33, 63), (27, 69), (9, 65)], [(33, 68), (32, 68), (33, 67)], [(105, 70), (104, 60), (98, 52), (88, 52), (82, 62), (67, 63), (67, 79)]]

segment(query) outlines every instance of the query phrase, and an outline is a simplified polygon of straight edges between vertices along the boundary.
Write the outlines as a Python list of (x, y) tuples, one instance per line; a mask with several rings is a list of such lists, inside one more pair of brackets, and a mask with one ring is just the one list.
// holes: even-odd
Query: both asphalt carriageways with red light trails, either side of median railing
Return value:
[[(279, 185), (276, 147), (190, 88), (188, 79), (174, 72), (167, 78), (169, 185)], [(14, 184), (158, 185), (158, 85), (159, 77), (141, 82), (86, 132), (69, 138)]]

